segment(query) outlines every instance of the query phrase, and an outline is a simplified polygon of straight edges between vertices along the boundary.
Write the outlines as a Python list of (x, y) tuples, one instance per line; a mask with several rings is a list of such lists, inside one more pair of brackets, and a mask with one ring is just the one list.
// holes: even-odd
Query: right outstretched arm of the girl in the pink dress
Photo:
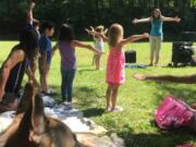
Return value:
[(131, 37), (126, 38), (126, 39), (123, 39), (120, 44), (122, 46), (128, 44), (128, 42), (133, 42), (133, 41), (136, 41), (136, 40), (139, 40), (139, 39), (144, 39), (144, 38), (149, 38), (149, 34), (145, 33), (143, 35), (132, 35)]

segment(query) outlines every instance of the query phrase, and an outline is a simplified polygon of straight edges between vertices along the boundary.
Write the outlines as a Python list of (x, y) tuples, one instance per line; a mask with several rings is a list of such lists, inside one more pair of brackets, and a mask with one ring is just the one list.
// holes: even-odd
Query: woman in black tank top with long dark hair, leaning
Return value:
[[(0, 101), (9, 103), (20, 97), (21, 84), (27, 69), (27, 61), (38, 53), (38, 36), (34, 29), (25, 29), (16, 45), (0, 69)], [(32, 77), (36, 82), (35, 77)], [(11, 94), (13, 97), (7, 97)]]

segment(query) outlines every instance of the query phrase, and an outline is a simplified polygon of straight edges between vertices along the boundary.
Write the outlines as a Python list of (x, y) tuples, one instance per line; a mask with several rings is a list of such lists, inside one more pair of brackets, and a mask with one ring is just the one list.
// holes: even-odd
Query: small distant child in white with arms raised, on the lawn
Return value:
[[(108, 29), (105, 29), (105, 27), (102, 25), (97, 26), (95, 29), (93, 26), (90, 26), (90, 28), (95, 32), (98, 32), (100, 34), (106, 35)], [(95, 44), (95, 48), (99, 49), (100, 51), (105, 52), (105, 41), (100, 36), (97, 35), (93, 35), (94, 37), (94, 44)], [(96, 70), (100, 70), (100, 61), (101, 61), (101, 56), (100, 53), (94, 53), (93, 57), (93, 65), (96, 65)]]

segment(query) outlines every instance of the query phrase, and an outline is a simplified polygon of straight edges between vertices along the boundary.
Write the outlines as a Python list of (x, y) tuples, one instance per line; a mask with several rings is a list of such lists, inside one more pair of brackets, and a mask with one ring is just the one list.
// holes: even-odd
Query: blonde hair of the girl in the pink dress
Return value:
[(108, 33), (109, 45), (115, 47), (123, 38), (123, 27), (120, 24), (112, 24)]

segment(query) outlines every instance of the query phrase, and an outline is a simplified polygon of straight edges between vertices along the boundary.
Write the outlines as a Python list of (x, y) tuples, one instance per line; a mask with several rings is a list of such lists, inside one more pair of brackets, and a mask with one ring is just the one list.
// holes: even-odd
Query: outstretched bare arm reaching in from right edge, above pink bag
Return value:
[(134, 74), (133, 77), (139, 81), (160, 81), (182, 84), (196, 84), (196, 74), (185, 76)]

